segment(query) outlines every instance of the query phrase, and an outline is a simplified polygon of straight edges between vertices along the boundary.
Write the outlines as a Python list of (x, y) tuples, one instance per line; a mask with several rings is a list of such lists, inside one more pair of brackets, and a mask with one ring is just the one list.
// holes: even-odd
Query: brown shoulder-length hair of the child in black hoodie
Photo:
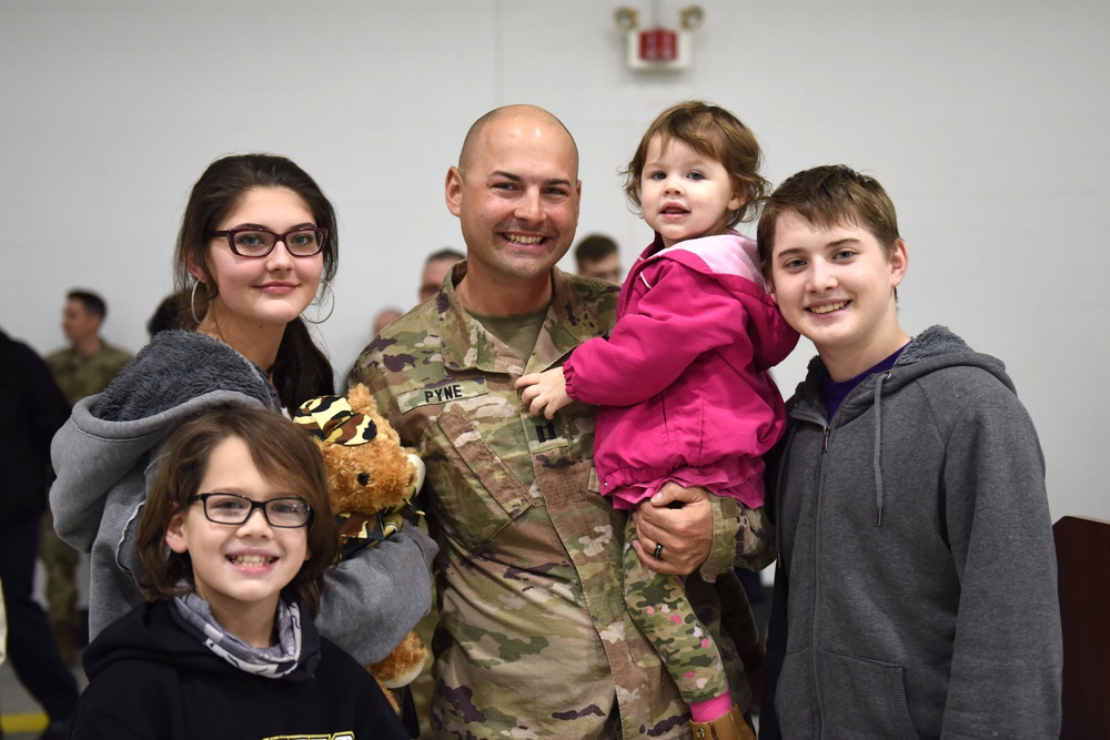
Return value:
[[(158, 474), (147, 495), (135, 550), (142, 565), (139, 588), (148, 601), (193, 590), (189, 554), (169, 549), (165, 533), (174, 515), (184, 513), (201, 493), (212, 450), (225, 439), (246, 443), (254, 466), (270, 480), (301, 496), (312, 507), (306, 526), (309, 559), (285, 587), (310, 615), (320, 611), (324, 569), (335, 559), (339, 530), (327, 497), (327, 470), (312, 439), (280, 414), (243, 406), (220, 407), (193, 417), (167, 439), (159, 453)], [(212, 525), (215, 527), (223, 525)]]

